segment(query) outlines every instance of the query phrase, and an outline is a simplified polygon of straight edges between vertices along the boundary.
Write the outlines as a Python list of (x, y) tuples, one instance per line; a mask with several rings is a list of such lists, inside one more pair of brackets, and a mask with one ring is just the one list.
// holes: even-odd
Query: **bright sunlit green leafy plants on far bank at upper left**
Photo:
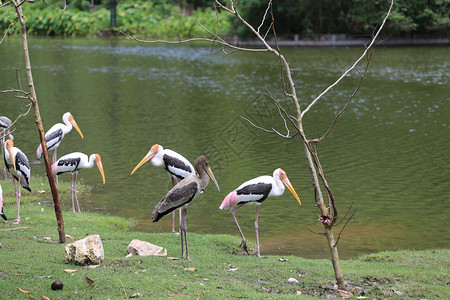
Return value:
[[(110, 28), (109, 8), (98, 6), (90, 10), (86, 3), (69, 1), (67, 9), (58, 12), (44, 3), (23, 5), (28, 33), (31, 35), (86, 36), (96, 35)], [(4, 31), (15, 17), (13, 7), (0, 9), (0, 28)], [(210, 36), (200, 25), (215, 30), (216, 14), (211, 8), (193, 11), (192, 16), (182, 14), (180, 6), (167, 2), (120, 1), (117, 6), (117, 27), (133, 34), (151, 37)], [(229, 22), (222, 19), (221, 30), (227, 32)], [(9, 33), (18, 33), (13, 26)]]

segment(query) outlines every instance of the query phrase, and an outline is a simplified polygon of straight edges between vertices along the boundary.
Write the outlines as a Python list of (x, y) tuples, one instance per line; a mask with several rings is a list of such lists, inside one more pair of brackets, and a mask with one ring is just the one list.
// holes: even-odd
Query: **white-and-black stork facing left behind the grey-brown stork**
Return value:
[[(194, 167), (184, 156), (170, 149), (164, 149), (161, 145), (155, 144), (150, 148), (147, 155), (145, 155), (136, 165), (131, 172), (131, 175), (133, 175), (133, 173), (148, 160), (151, 160), (152, 165), (156, 167), (164, 165), (164, 168), (169, 172), (169, 176), (172, 179), (172, 187), (178, 183), (178, 180), (183, 180), (184, 178), (195, 174)], [(172, 213), (172, 232), (175, 232), (175, 211)]]

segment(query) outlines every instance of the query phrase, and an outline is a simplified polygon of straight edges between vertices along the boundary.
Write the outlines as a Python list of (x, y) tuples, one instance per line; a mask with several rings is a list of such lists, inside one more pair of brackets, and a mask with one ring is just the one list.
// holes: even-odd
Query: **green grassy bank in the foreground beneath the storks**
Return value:
[[(40, 183), (34, 180), (36, 185)], [(9, 184), (2, 181), (4, 190)], [(0, 286), (2, 299), (127, 299), (186, 296), (189, 298), (283, 299), (320, 298), (333, 290), (334, 274), (327, 259), (242, 255), (240, 238), (188, 233), (192, 261), (164, 257), (125, 258), (127, 245), (141, 239), (163, 246), (169, 257), (180, 255), (179, 236), (133, 231), (133, 222), (120, 217), (64, 212), (68, 242), (99, 234), (105, 261), (97, 268), (64, 262), (64, 245), (58, 242), (54, 211), (38, 205), (49, 195), (35, 189), (21, 215), (21, 224), (0, 223)], [(25, 195), (25, 193), (24, 193)], [(5, 213), (15, 214), (13, 193), (6, 188)], [(65, 205), (70, 208), (70, 205)], [(25, 219), (27, 218), (27, 219)], [(16, 230), (5, 231), (5, 229)], [(450, 298), (450, 250), (399, 251), (364, 255), (342, 261), (349, 288), (358, 296), (373, 298)], [(283, 258), (283, 259), (281, 259)], [(66, 269), (76, 270), (65, 272)], [(86, 283), (88, 277), (94, 283)], [(289, 282), (295, 278), (298, 282)], [(53, 291), (55, 280), (64, 284)], [(24, 294), (18, 290), (31, 292)], [(301, 295), (297, 295), (301, 292)]]

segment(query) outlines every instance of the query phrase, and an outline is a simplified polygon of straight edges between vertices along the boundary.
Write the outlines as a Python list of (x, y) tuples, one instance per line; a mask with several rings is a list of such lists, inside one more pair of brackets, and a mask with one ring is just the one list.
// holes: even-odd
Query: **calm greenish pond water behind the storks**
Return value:
[[(264, 202), (262, 253), (328, 257), (324, 238), (308, 230), (320, 231), (321, 225), (299, 140), (263, 133), (240, 119), (245, 116), (283, 130), (278, 111), (264, 92), (271, 91), (293, 111), (280, 93), (276, 59), (268, 54), (209, 55), (209, 47), (123, 40), (31, 39), (30, 44), (45, 129), (70, 111), (85, 136), (81, 140), (76, 132), (67, 135), (59, 154), (81, 151), (102, 156), (105, 185), (94, 169), (80, 173), (80, 180), (93, 186), (92, 194), (80, 197), (83, 210), (135, 218), (138, 230), (169, 231), (171, 218), (151, 221), (153, 207), (170, 188), (164, 169), (147, 163), (130, 176), (149, 148), (159, 143), (192, 162), (205, 154), (221, 187), (218, 192), (209, 186), (189, 206), (188, 231), (239, 236), (229, 212), (218, 209), (222, 199), (243, 181), (281, 167), (303, 206), (290, 193)], [(302, 107), (360, 53), (360, 49), (287, 49)], [(6, 39), (0, 61), (1, 88), (17, 87), (15, 70), (23, 69), (18, 39)], [(380, 48), (371, 64), (360, 93), (319, 147), (341, 215), (353, 201), (357, 210), (339, 242), (341, 257), (448, 248), (449, 48)], [(357, 81), (357, 75), (348, 76), (308, 113), (309, 137), (326, 130)], [(11, 94), (0, 94), (0, 115), (14, 118), (24, 112), (25, 104)], [(35, 160), (39, 138), (32, 115), (17, 124), (15, 139)], [(44, 172), (42, 165), (32, 166), (33, 174), (43, 177)], [(60, 180), (69, 178), (64, 175)], [(48, 191), (44, 180), (42, 188)], [(71, 205), (68, 197), (61, 195), (66, 209)], [(255, 236), (254, 216), (254, 206), (237, 214), (249, 239)]]

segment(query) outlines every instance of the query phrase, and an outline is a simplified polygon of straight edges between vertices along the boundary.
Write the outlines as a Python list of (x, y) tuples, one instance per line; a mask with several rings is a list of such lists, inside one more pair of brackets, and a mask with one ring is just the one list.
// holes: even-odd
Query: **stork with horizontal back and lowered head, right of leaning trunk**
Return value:
[(87, 156), (81, 152), (73, 152), (64, 155), (52, 165), (52, 174), (60, 175), (63, 173), (71, 173), (70, 191), (72, 192), (72, 211), (75, 213), (75, 201), (77, 202), (78, 212), (81, 212), (77, 197), (77, 175), (81, 168), (92, 168), (94, 163), (97, 165), (102, 175), (103, 184), (105, 184), (105, 174), (103, 173), (102, 159), (98, 154)]

